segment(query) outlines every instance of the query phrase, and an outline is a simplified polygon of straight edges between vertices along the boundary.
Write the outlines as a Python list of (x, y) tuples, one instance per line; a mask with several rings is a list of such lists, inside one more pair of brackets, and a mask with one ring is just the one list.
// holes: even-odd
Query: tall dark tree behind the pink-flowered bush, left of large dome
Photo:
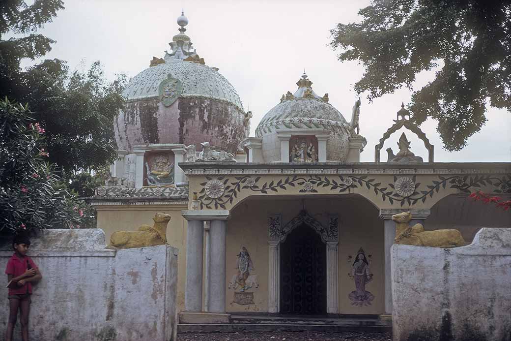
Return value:
[[(69, 177), (117, 158), (113, 120), (123, 108), (126, 78), (107, 81), (99, 62), (87, 72), (69, 72), (59, 59), (21, 70), (21, 59), (40, 58), (50, 51), (54, 41), (33, 32), (60, 9), (60, 0), (36, 0), (31, 6), (16, 0), (0, 4), (0, 98), (29, 103), (34, 119), (45, 127), (49, 160)], [(2, 40), (7, 32), (32, 33)]]

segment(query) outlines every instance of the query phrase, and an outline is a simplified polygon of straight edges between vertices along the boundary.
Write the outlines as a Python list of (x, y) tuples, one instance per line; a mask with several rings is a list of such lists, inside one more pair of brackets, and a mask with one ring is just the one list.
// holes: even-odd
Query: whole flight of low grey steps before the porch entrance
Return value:
[[(192, 314), (192, 315), (191, 315)], [(212, 315), (212, 318), (207, 318)], [(221, 316), (219, 318), (219, 316)], [(283, 315), (180, 313), (178, 333), (239, 331), (390, 332), (390, 315)]]

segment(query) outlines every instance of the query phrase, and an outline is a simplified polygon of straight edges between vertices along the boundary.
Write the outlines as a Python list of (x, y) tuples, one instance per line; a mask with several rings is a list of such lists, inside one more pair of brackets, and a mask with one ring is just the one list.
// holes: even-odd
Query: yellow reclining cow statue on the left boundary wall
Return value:
[(128, 249), (133, 247), (155, 246), (167, 244), (167, 224), (171, 217), (157, 213), (154, 225), (142, 225), (136, 231), (115, 231), (110, 236), (107, 249)]

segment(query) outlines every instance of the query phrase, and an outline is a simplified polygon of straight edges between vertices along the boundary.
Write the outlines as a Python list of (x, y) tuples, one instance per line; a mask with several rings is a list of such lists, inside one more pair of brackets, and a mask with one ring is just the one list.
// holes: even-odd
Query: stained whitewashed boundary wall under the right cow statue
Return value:
[(511, 228), (468, 246), (393, 245), (393, 340), (511, 339)]

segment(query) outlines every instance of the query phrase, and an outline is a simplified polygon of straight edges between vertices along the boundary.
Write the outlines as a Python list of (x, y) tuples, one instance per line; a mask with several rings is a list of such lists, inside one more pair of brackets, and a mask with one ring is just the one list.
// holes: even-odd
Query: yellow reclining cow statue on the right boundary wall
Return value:
[(430, 246), (430, 247), (456, 247), (467, 243), (458, 230), (425, 231), (422, 224), (409, 226), (412, 219), (410, 212), (403, 212), (392, 216), (396, 222), (396, 238), (394, 244)]

